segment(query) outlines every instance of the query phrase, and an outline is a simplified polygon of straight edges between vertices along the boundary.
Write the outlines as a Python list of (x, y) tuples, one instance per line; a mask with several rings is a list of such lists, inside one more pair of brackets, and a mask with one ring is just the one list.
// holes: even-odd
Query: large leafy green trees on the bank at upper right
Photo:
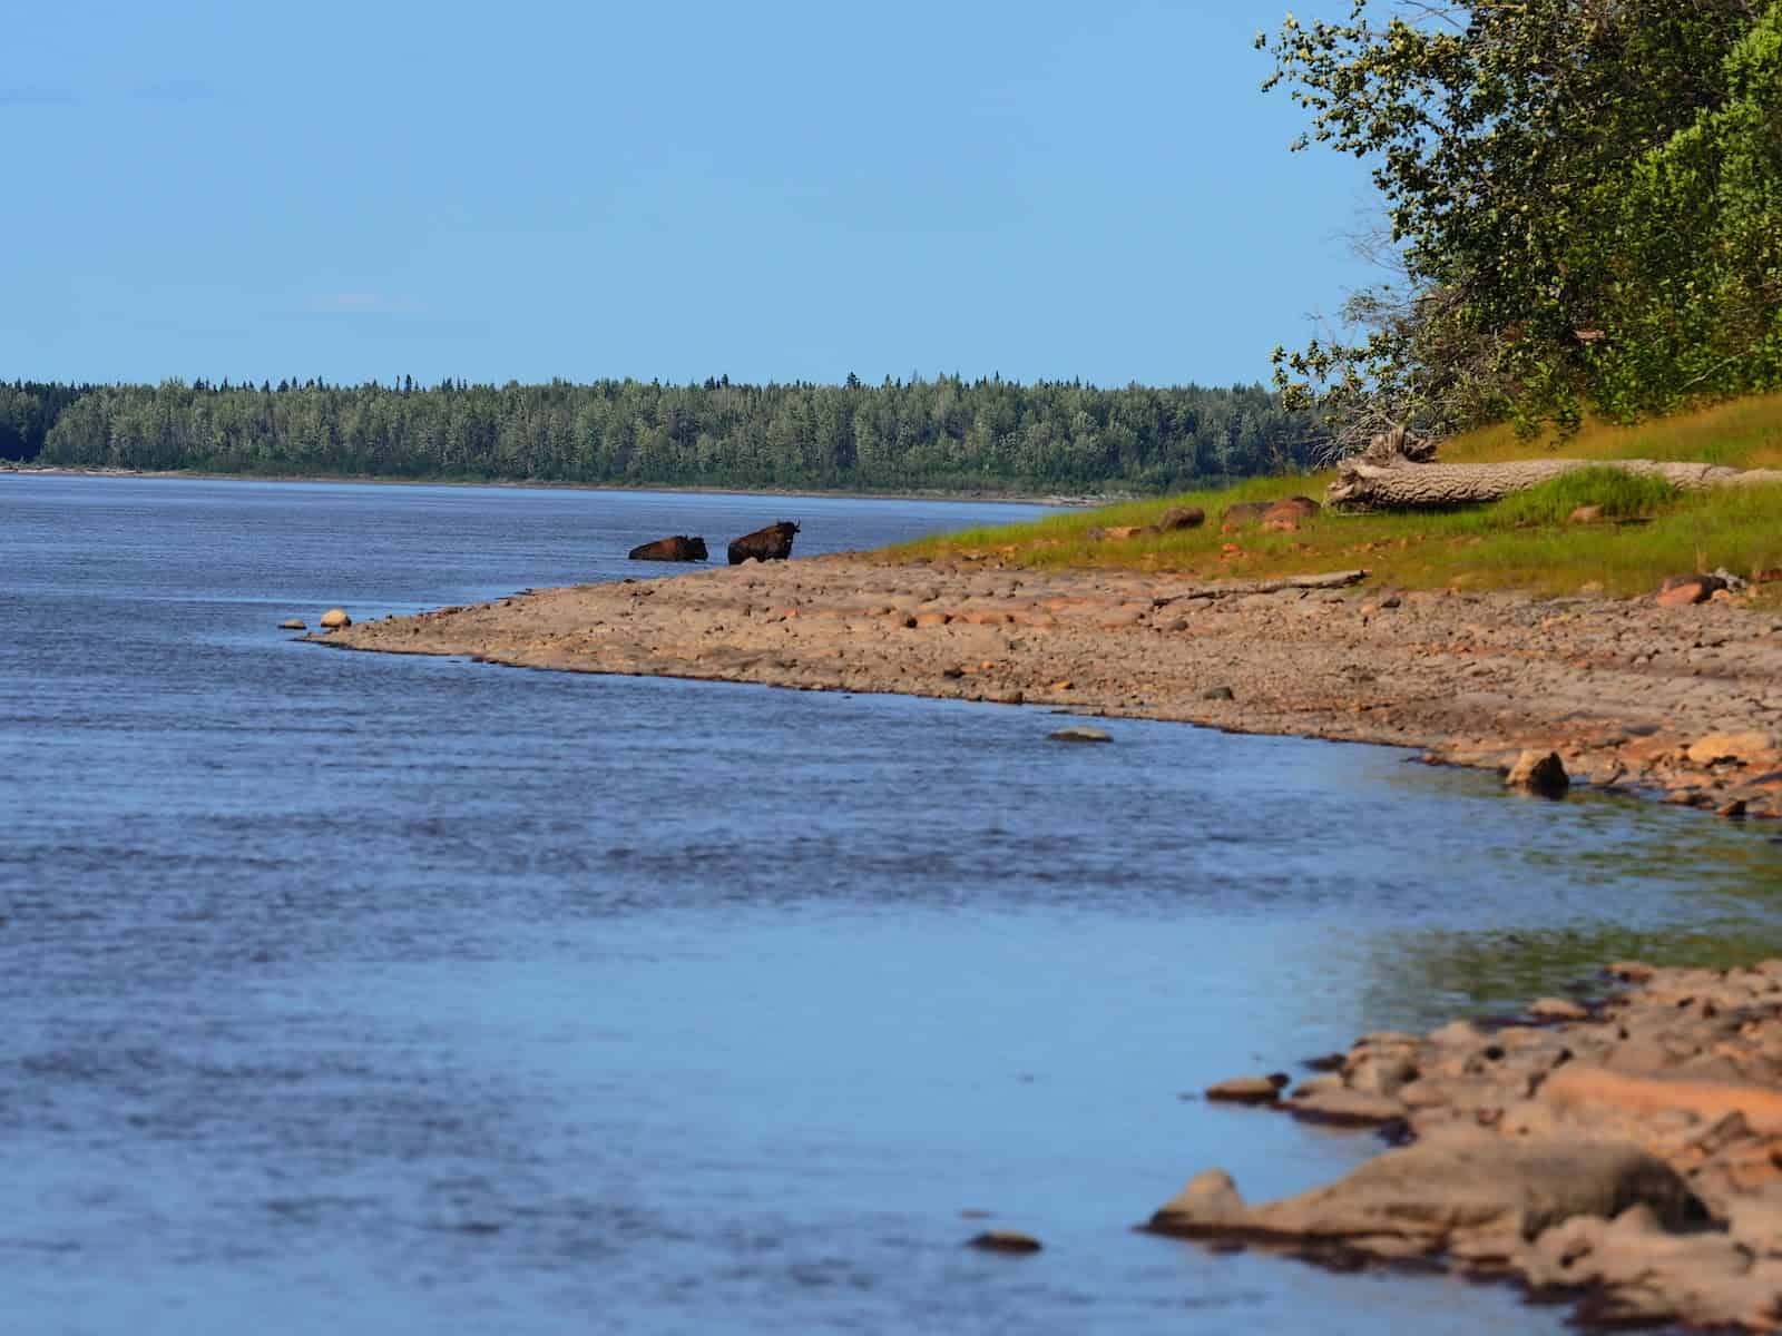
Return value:
[(1258, 46), (1386, 210), (1395, 278), (1276, 353), (1340, 442), (1782, 385), (1782, 0), (1356, 0)]

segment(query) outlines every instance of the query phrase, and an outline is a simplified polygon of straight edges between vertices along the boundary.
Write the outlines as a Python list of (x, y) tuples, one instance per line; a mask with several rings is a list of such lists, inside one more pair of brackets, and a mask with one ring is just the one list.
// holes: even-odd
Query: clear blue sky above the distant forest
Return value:
[(0, 0), (0, 379), (1262, 379), (1285, 7)]

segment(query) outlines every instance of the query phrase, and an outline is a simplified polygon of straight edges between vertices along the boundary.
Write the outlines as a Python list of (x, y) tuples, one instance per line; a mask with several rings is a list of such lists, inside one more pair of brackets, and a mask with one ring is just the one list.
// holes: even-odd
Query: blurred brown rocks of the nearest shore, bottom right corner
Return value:
[(1283, 1076), (1212, 1087), (1401, 1149), (1258, 1206), (1206, 1170), (1146, 1227), (1513, 1281), (1584, 1325), (1782, 1329), (1782, 960), (1609, 974), (1632, 987), (1367, 1035), (1279, 1099)]

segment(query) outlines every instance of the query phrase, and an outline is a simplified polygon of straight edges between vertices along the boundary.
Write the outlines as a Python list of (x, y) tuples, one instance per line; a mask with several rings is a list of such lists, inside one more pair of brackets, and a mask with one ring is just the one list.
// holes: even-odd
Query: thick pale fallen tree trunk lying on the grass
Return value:
[(1344, 460), (1329, 485), (1329, 502), (1345, 509), (1433, 509), (1500, 501), (1579, 468), (1620, 468), (1663, 477), (1680, 492), (1713, 486), (1782, 483), (1782, 468), (1725, 468), (1718, 463), (1663, 460), (1511, 460), (1508, 463), (1369, 463)]

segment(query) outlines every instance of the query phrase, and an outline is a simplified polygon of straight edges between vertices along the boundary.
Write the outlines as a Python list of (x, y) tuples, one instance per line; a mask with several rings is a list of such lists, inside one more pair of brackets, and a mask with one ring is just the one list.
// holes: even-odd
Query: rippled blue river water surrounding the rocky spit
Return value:
[(0, 474), (0, 1331), (1559, 1331), (1130, 1226), (1376, 1149), (1214, 1079), (1775, 953), (1773, 832), (274, 629), (1030, 513)]

